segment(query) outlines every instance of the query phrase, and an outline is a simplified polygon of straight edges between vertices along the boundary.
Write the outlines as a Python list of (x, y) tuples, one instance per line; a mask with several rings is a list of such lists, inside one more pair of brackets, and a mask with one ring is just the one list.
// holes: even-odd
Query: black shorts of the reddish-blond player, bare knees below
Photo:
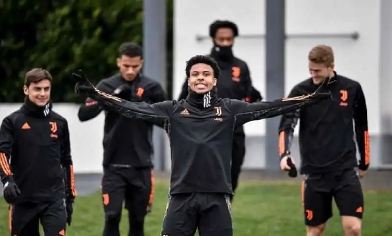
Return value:
[(302, 183), (305, 224), (317, 226), (332, 217), (332, 198), (341, 216), (362, 219), (364, 197), (355, 169), (305, 175)]

